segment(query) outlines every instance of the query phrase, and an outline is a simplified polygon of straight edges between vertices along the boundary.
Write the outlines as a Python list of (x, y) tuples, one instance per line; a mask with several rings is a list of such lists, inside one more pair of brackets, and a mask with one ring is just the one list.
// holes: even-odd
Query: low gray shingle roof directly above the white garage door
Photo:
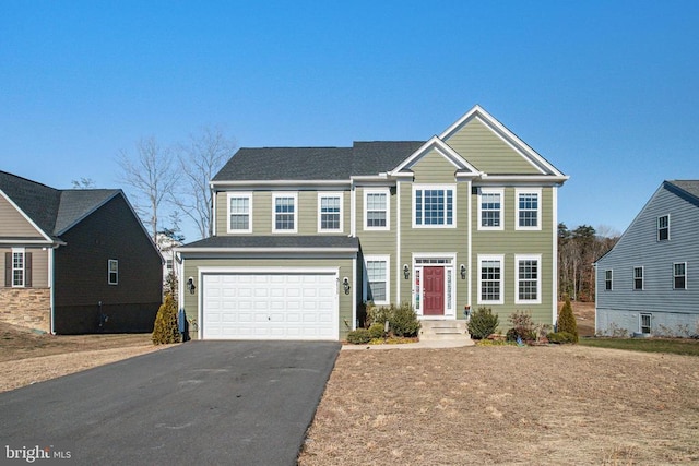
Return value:
[(270, 248), (270, 249), (359, 249), (359, 240), (341, 235), (297, 236), (214, 236), (185, 244), (183, 248)]

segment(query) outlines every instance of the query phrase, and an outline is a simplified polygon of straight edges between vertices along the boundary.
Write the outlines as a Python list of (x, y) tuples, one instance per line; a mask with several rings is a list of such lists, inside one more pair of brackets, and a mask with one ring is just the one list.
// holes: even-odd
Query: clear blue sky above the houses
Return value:
[[(478, 104), (621, 232), (699, 179), (699, 2), (0, 0), (0, 169), (119, 184), (141, 138), (427, 140)], [(197, 239), (185, 227), (188, 239)]]

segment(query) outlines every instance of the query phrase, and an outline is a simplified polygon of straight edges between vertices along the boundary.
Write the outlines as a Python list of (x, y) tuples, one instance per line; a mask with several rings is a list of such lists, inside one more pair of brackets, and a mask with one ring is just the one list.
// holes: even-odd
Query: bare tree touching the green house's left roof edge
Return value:
[(203, 128), (178, 148), (181, 178), (170, 202), (197, 225), (201, 238), (210, 235), (213, 222), (209, 182), (235, 148), (235, 141), (226, 138), (220, 128)]

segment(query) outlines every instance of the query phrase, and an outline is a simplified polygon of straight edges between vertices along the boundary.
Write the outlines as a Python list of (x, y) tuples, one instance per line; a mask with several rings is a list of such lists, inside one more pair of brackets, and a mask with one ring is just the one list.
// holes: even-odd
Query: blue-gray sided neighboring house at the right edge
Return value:
[(664, 181), (595, 266), (597, 334), (699, 333), (699, 180)]

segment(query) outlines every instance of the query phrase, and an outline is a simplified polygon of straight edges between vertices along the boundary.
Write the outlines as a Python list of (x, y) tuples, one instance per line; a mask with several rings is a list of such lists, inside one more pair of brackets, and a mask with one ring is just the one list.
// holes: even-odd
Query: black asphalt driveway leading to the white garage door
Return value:
[(295, 465), (339, 350), (190, 342), (2, 393), (0, 464)]

